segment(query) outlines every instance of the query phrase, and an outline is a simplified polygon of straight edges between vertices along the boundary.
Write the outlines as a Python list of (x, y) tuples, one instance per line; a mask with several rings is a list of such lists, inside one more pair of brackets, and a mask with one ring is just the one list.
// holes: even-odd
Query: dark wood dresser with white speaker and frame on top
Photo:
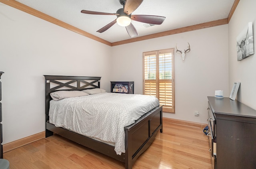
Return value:
[[(208, 96), (214, 169), (256, 168), (256, 110), (230, 98)], [(214, 147), (216, 146), (216, 147)], [(213, 155), (215, 154), (215, 155)]]

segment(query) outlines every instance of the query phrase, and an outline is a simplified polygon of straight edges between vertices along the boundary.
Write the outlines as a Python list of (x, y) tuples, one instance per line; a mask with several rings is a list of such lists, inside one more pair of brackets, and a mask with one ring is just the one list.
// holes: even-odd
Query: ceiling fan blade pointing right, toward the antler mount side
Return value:
[(164, 16), (153, 16), (153, 15), (131, 15), (131, 20), (143, 22), (146, 24), (160, 25), (164, 22)]

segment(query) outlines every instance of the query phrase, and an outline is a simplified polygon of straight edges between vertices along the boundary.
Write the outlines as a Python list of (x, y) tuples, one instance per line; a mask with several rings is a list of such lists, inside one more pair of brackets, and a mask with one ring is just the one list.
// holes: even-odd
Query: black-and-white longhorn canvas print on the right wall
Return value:
[(236, 37), (236, 50), (238, 61), (254, 54), (252, 22)]

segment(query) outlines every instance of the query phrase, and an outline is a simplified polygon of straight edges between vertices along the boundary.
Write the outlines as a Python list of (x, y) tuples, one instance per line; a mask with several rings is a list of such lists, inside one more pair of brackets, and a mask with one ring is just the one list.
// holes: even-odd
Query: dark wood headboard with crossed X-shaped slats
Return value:
[(53, 76), (44, 75), (45, 78), (45, 115), (46, 122), (49, 120), (50, 93), (60, 90), (85, 90), (100, 88), (101, 77), (84, 76)]

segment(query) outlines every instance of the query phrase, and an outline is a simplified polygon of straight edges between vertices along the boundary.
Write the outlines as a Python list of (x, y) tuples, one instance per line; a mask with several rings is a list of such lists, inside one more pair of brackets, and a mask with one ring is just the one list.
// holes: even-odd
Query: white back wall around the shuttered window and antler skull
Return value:
[[(189, 31), (113, 47), (112, 81), (134, 81), (134, 93), (142, 94), (142, 52), (176, 47), (191, 51), (185, 62), (175, 55), (176, 113), (164, 117), (207, 124), (207, 96), (228, 91), (228, 25)], [(199, 111), (200, 116), (194, 116)]]

